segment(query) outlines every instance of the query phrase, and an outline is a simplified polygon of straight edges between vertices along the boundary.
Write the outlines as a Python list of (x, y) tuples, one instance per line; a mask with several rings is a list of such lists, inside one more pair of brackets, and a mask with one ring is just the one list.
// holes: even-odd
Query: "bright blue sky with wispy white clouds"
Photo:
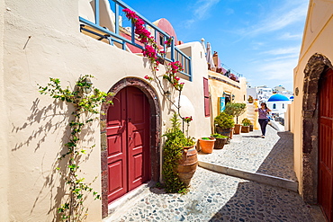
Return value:
[(211, 43), (252, 86), (293, 90), (309, 0), (123, 0), (150, 22), (166, 18), (178, 40)]

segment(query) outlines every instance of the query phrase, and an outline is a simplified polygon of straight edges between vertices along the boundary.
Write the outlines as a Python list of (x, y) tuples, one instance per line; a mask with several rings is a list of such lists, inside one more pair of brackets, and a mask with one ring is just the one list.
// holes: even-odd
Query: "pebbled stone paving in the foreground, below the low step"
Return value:
[(293, 191), (199, 167), (186, 195), (151, 188), (112, 221), (316, 221)]

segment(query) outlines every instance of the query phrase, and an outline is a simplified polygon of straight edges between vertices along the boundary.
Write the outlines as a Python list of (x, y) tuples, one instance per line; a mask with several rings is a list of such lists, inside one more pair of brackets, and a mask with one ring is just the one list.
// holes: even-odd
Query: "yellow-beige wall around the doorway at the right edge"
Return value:
[[(302, 98), (304, 68), (312, 55), (320, 53), (333, 62), (333, 2), (311, 0), (302, 39), (302, 48), (297, 67), (294, 68), (292, 105), (292, 131), (294, 133), (294, 170), (300, 182), (299, 191), (302, 193)], [(306, 129), (305, 129), (306, 130)]]

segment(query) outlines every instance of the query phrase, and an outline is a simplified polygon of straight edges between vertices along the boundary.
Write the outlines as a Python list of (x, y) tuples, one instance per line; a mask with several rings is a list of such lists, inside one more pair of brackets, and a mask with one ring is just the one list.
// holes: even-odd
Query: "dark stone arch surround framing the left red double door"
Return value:
[[(151, 159), (151, 180), (157, 182), (160, 174), (160, 122), (161, 109), (156, 91), (146, 81), (136, 77), (127, 77), (114, 84), (109, 92), (114, 94), (121, 89), (134, 86), (139, 88), (148, 98), (150, 105), (150, 159)], [(112, 98), (108, 98), (112, 100)], [(107, 113), (110, 104), (103, 103), (101, 112)], [(101, 163), (102, 163), (102, 216), (108, 215), (108, 169), (107, 169), (107, 138), (106, 138), (106, 115), (101, 115)]]

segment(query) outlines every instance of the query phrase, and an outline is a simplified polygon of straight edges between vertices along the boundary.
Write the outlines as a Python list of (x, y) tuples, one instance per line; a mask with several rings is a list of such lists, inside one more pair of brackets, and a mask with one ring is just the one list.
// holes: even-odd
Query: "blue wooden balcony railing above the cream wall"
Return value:
[[(105, 0), (102, 0), (103, 4), (105, 4)], [(143, 46), (139, 45), (135, 38), (134, 34), (134, 25), (133, 23), (130, 24), (130, 40), (124, 38), (121, 36), (120, 32), (120, 8), (128, 8), (131, 11), (134, 11), (129, 5), (123, 3), (120, 0), (109, 0), (109, 2), (113, 2), (114, 12), (112, 11), (112, 6), (110, 4), (106, 4), (106, 7), (110, 7), (110, 10), (114, 13), (114, 31), (108, 30), (107, 28), (104, 28), (100, 25), (100, 4), (102, 2), (101, 0), (95, 0), (94, 1), (94, 21), (88, 21), (87, 19), (79, 16), (79, 21), (82, 22), (81, 24), (81, 31), (86, 31), (95, 37), (98, 37), (98, 40), (107, 40), (107, 42), (111, 45), (114, 43), (118, 44), (118, 46), (121, 46), (121, 49), (127, 49), (127, 44), (130, 44), (138, 49), (144, 49)], [(103, 5), (104, 6), (104, 5)], [(143, 17), (141, 14), (137, 13), (139, 18), (141, 18), (146, 25), (146, 28), (149, 27), (152, 32), (152, 35), (155, 38), (155, 41), (158, 42), (157, 38), (163, 38), (160, 40), (162, 44), (160, 44), (164, 50), (166, 51), (166, 45), (164, 42), (170, 38), (171, 40), (171, 47), (168, 49), (170, 52), (168, 56), (164, 57), (166, 61), (168, 62), (174, 62), (179, 61), (183, 66), (183, 71), (180, 72), (182, 75), (185, 75), (188, 77), (190, 81), (192, 81), (192, 60), (190, 57), (186, 56), (183, 51), (180, 49), (177, 49), (175, 46), (174, 38), (167, 34), (165, 31), (162, 31), (159, 29), (155, 24), (152, 22), (149, 22), (145, 17)], [(127, 19), (127, 18), (124, 18)], [(158, 55), (161, 57), (161, 55)]]

